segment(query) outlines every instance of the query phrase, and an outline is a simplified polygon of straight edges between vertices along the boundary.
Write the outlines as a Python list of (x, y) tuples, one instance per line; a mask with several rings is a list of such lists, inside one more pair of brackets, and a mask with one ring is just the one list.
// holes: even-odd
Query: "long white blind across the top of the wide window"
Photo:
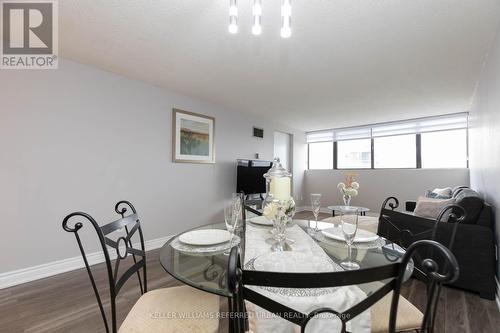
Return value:
[(369, 126), (315, 131), (307, 133), (306, 139), (307, 143), (313, 143), (466, 129), (468, 128), (468, 118), (469, 114), (464, 112)]

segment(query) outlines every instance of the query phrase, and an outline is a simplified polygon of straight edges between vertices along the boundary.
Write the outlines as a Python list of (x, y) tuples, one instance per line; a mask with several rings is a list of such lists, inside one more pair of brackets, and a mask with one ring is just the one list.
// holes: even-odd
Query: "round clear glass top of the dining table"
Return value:
[[(254, 228), (271, 229), (270, 227), (257, 226), (250, 222), (247, 223), (251, 224)], [(314, 226), (314, 223), (314, 221), (308, 220), (292, 221), (292, 225), (297, 225), (304, 231), (307, 230), (309, 225)], [(319, 229), (331, 228), (333, 226), (334, 224), (332, 223), (318, 223)], [(198, 229), (224, 230), (225, 224), (207, 224), (187, 231)], [(252, 230), (255, 229), (252, 228)], [(250, 230), (247, 229), (247, 233), (248, 232), (250, 232)], [(241, 238), (239, 246), (242, 249), (242, 253), (244, 253), (245, 237), (241, 230), (237, 232), (237, 235)], [(209, 253), (183, 251), (175, 244), (175, 242), (178, 242), (178, 236), (179, 235), (170, 239), (160, 250), (160, 262), (163, 268), (184, 284), (220, 296), (231, 296), (227, 288), (226, 276), (229, 256), (224, 253), (225, 251), (215, 250)], [(340, 264), (347, 258), (347, 245), (345, 242), (327, 238), (321, 232), (317, 233), (312, 239), (328, 255), (332, 262)], [(294, 244), (290, 244), (289, 246), (289, 250), (293, 251)], [(271, 246), (269, 246), (269, 248), (270, 247)], [(401, 247), (382, 237), (370, 243), (355, 243), (352, 248), (352, 258), (360, 265), (360, 273), (362, 273), (363, 269), (367, 268), (398, 264), (404, 253), (405, 251)], [(245, 262), (252, 259), (255, 258), (245, 258)], [(245, 267), (244, 269), (254, 268)], [(318, 274), (321, 273), (318, 272)], [(379, 287), (380, 284), (373, 284), (373, 286), (369, 284), (360, 285), (360, 288), (367, 293), (375, 291)]]

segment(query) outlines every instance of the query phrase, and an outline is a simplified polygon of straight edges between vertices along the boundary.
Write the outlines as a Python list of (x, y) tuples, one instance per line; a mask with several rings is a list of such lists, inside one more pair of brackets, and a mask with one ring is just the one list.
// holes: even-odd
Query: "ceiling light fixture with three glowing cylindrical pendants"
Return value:
[[(231, 34), (238, 33), (238, 3), (229, 0), (229, 26)], [(262, 0), (253, 0), (252, 6), (252, 34), (262, 34)], [(292, 36), (292, 0), (281, 0), (281, 30), (282, 38)]]

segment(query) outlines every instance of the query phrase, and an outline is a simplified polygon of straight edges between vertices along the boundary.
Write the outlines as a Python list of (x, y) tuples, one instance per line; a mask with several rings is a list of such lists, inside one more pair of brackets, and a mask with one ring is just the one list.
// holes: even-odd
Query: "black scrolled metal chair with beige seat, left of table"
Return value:
[[(130, 215), (126, 213), (131, 211)], [(120, 201), (115, 206), (117, 214), (121, 218), (99, 226), (96, 220), (89, 214), (75, 212), (66, 216), (63, 220), (63, 229), (73, 233), (76, 237), (85, 268), (87, 270), (92, 288), (97, 299), (99, 311), (104, 321), (107, 333), (168, 333), (168, 332), (217, 332), (218, 319), (183, 319), (176, 316), (180, 313), (211, 313), (219, 311), (219, 298), (208, 293), (198, 291), (189, 287), (172, 287), (156, 289), (148, 292), (147, 270), (146, 270), (146, 250), (144, 247), (144, 237), (142, 234), (139, 216), (134, 206), (128, 201)], [(70, 224), (71, 223), (71, 224)], [(79, 231), (84, 224), (90, 223), (97, 234), (99, 244), (104, 254), (107, 272), (107, 283), (109, 286), (110, 309), (107, 310), (107, 302), (104, 302), (104, 292), (101, 294), (96, 284), (96, 279), (89, 265), (87, 255), (83, 246)], [(111, 236), (115, 236), (112, 238)], [(138, 242), (133, 243), (136, 236)], [(116, 261), (112, 263), (112, 253), (109, 248), (116, 251)], [(129, 260), (132, 257), (132, 263)], [(128, 268), (123, 274), (119, 274), (120, 265), (127, 265)], [(113, 268), (114, 266), (114, 268)], [(128, 313), (122, 325), (118, 329), (116, 318), (116, 300), (125, 282), (136, 275), (140, 286), (141, 297)], [(106, 297), (107, 300), (107, 297)], [(109, 321), (108, 315), (111, 315)], [(177, 319), (176, 319), (177, 318)]]

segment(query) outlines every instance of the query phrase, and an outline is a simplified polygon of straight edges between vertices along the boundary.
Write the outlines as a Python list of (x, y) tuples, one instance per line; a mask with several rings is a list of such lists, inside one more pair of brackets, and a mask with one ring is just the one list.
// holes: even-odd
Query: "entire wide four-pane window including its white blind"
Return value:
[(467, 168), (468, 113), (306, 133), (309, 169)]

